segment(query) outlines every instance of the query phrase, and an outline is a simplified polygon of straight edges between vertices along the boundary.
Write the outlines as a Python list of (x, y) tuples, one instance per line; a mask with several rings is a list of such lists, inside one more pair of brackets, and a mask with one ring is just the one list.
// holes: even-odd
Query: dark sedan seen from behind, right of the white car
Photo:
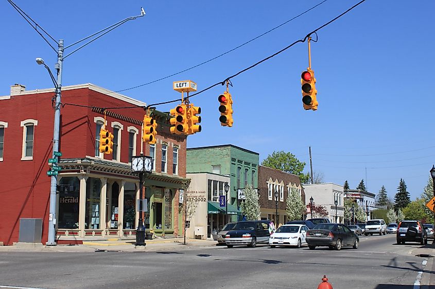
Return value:
[(327, 246), (330, 250), (340, 250), (342, 246), (358, 248), (359, 238), (354, 232), (343, 224), (318, 224), (308, 230), (306, 235), (308, 247), (314, 250), (317, 246)]

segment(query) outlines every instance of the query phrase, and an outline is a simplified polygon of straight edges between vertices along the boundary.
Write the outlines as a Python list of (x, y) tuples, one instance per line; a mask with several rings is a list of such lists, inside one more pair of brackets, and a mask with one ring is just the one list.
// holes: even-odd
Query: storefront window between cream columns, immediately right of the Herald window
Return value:
[(86, 210), (84, 217), (85, 229), (100, 228), (100, 179), (89, 178), (86, 181)]

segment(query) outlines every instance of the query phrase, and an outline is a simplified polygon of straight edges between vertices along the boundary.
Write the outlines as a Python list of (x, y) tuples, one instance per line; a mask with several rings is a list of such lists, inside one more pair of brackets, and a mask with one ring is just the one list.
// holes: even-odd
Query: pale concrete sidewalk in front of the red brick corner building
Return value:
[(1, 252), (153, 252), (169, 249), (189, 249), (200, 246), (216, 246), (217, 241), (186, 238), (158, 238), (145, 240), (146, 246), (135, 246), (135, 240), (83, 241), (82, 245), (45, 246), (42, 243), (14, 243), (13, 246), (0, 246)]

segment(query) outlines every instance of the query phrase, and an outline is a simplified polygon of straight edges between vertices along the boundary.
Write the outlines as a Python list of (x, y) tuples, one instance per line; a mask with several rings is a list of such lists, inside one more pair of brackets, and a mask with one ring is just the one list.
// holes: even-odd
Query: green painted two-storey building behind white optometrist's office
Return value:
[[(247, 185), (258, 187), (258, 161), (259, 154), (235, 145), (217, 145), (187, 149), (187, 174), (211, 172), (213, 174), (229, 176), (230, 190), (228, 192), (228, 211), (237, 214), (227, 214), (228, 221), (241, 219), (240, 194)], [(209, 207), (219, 208), (218, 196), (224, 195), (220, 187), (213, 188), (213, 182), (208, 183), (207, 201)], [(215, 196), (216, 195), (216, 196)], [(227, 210), (227, 208), (224, 208)], [(219, 218), (218, 210), (209, 210), (208, 218)]]

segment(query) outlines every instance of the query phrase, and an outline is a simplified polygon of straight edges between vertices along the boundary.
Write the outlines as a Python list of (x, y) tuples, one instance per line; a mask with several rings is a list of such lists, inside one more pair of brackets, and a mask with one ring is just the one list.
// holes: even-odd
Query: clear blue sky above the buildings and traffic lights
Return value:
[[(93, 83), (111, 90), (211, 59), (320, 2), (15, 0), (65, 45), (139, 15), (143, 6), (145, 17), (64, 61), (64, 86)], [(179, 97), (173, 81), (193, 80), (203, 89), (303, 38), (357, 2), (329, 0), (219, 59), (122, 93), (155, 103)], [(366, 1), (320, 30), (319, 41), (312, 44), (317, 111), (302, 107), (300, 75), (308, 56), (307, 44), (297, 44), (232, 80), (232, 128), (218, 121), (223, 87), (192, 98), (202, 107), (203, 131), (188, 137), (188, 147), (234, 144), (260, 153), (260, 161), (284, 150), (306, 162), (308, 171), (311, 146), (314, 171), (325, 182), (348, 180), (355, 188), (364, 179), (370, 191), (385, 185), (394, 197), (403, 178), (411, 198), (419, 197), (435, 163), (433, 11), (433, 1)], [(42, 57), (53, 69), (55, 52), (6, 0), (0, 2), (0, 25), (0, 95), (8, 95), (14, 83), (27, 89), (53, 87), (34, 59)]]

